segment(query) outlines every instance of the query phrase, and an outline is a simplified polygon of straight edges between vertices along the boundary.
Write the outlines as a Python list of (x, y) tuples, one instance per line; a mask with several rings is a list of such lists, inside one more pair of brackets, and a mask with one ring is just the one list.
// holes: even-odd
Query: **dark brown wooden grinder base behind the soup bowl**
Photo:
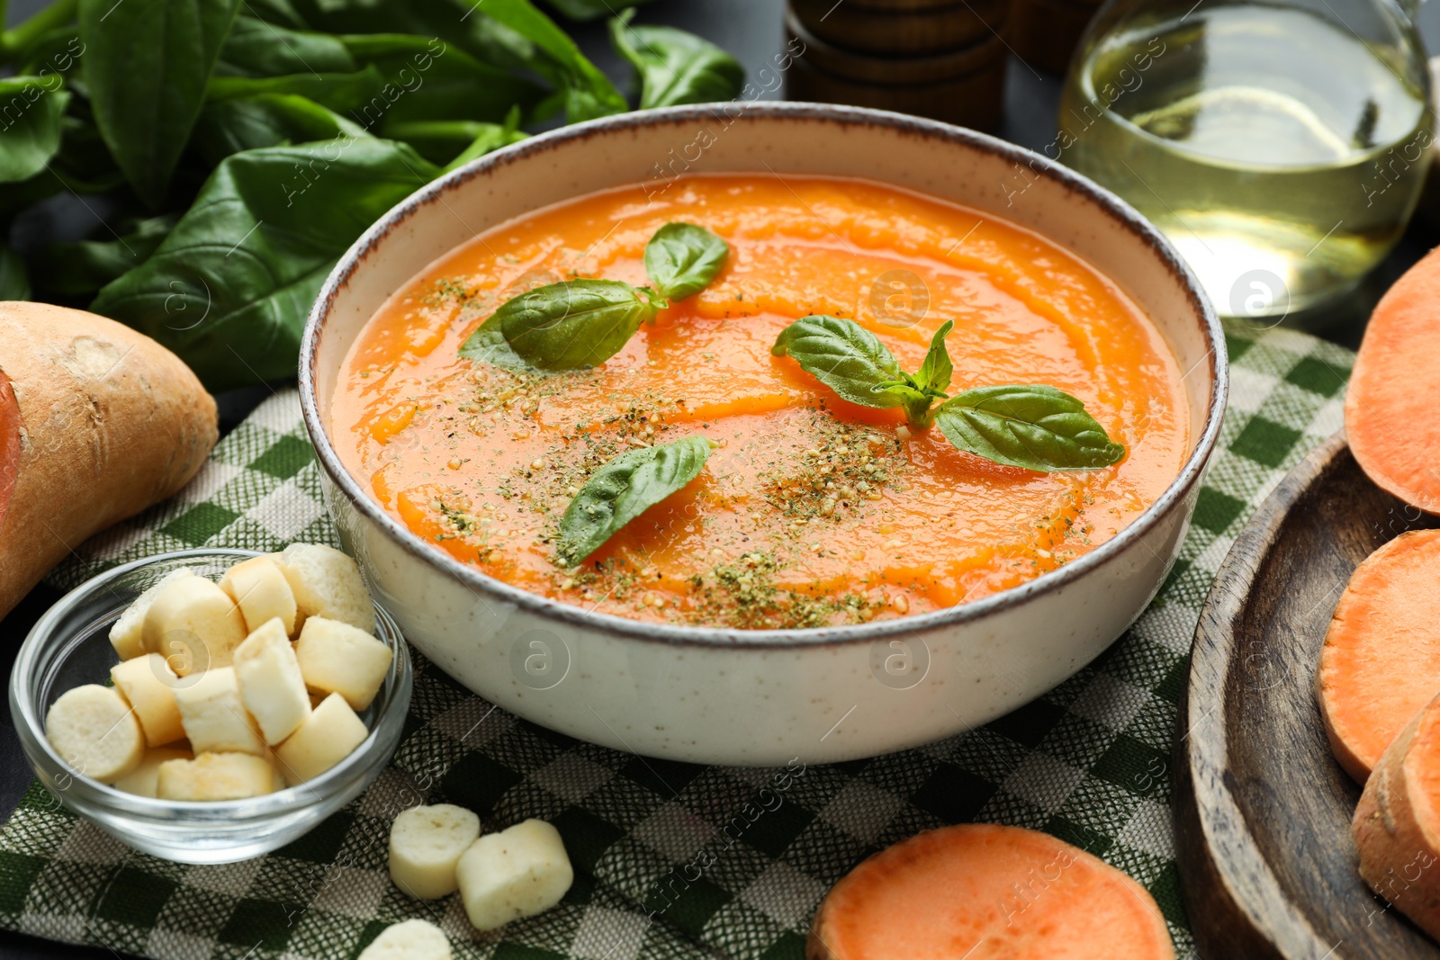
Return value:
[(1009, 0), (789, 0), (786, 96), (994, 130)]

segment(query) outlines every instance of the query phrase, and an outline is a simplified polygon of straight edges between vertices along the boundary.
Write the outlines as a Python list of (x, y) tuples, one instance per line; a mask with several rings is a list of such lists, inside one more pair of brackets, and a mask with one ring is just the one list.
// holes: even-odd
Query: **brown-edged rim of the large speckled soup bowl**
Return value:
[(878, 127), (894, 131), (906, 137), (942, 141), (955, 144), (966, 150), (976, 150), (998, 155), (1009, 163), (1022, 164), (1047, 180), (1064, 186), (1067, 190), (1080, 194), (1096, 206), (1104, 209), (1110, 217), (1120, 223), (1130, 233), (1149, 246), (1156, 258), (1169, 269), (1174, 278), (1189, 295), (1194, 315), (1200, 318), (1202, 334), (1210, 344), (1207, 361), (1211, 374), (1210, 403), (1205, 412), (1204, 429), (1195, 442), (1194, 450), (1185, 461), (1179, 475), (1171, 482), (1161, 497), (1151, 504), (1129, 527), (1096, 547), (1093, 551), (1064, 564), (1058, 570), (1043, 574), (1018, 587), (1002, 590), (989, 597), (962, 603), (959, 606), (917, 613), (894, 620), (880, 620), (847, 626), (828, 626), (812, 629), (770, 629), (770, 630), (737, 630), (721, 628), (675, 626), (668, 623), (649, 623), (631, 620), (611, 613), (596, 613), (582, 607), (552, 600), (520, 587), (514, 587), (501, 580), (495, 580), (474, 567), (468, 567), (449, 554), (426, 544), (410, 533), (403, 524), (392, 518), (382, 507), (363, 489), (359, 482), (346, 471), (334, 446), (324, 430), (320, 397), (315, 396), (315, 354), (325, 320), (334, 307), (337, 294), (350, 282), (350, 278), (364, 269), (366, 258), (384, 240), (384, 237), (415, 214), (420, 207), (444, 201), (444, 196), (478, 177), (487, 177), (492, 171), (517, 163), (528, 163), (536, 157), (554, 150), (562, 144), (585, 141), (595, 137), (613, 135), (622, 131), (634, 131), (654, 127), (684, 127), (701, 121), (714, 121), (716, 111), (723, 105), (700, 107), (671, 107), (664, 109), (635, 111), (616, 117), (603, 117), (573, 127), (563, 127), (530, 140), (521, 141), (492, 154), (487, 154), (464, 167), (454, 170), (433, 183), (420, 187), (360, 236), (359, 240), (346, 250), (340, 262), (330, 272), (320, 296), (310, 311), (305, 322), (305, 332), (300, 344), (300, 400), (305, 419), (305, 429), (315, 446), (315, 455), (321, 469), (340, 488), (341, 492), (356, 505), (366, 520), (379, 525), (389, 537), (412, 556), (428, 563), (436, 573), (459, 581), (477, 592), (481, 597), (514, 603), (516, 606), (559, 623), (569, 626), (602, 630), (612, 636), (631, 638), (636, 640), (660, 642), (681, 646), (743, 646), (747, 649), (799, 646), (822, 646), (838, 643), (871, 643), (874, 640), (929, 632), (939, 628), (953, 626), (982, 620), (996, 613), (1009, 610), (1030, 602), (1035, 596), (1061, 590), (1076, 583), (1090, 571), (1115, 561), (1120, 554), (1136, 545), (1146, 533), (1156, 524), (1168, 518), (1174, 511), (1184, 510), (1184, 501), (1191, 489), (1200, 484), (1205, 463), (1220, 438), (1221, 416), (1225, 410), (1225, 399), (1230, 389), (1230, 364), (1225, 353), (1225, 338), (1210, 299), (1201, 292), (1200, 282), (1191, 272), (1185, 261), (1171, 243), (1133, 207), (1120, 200), (1109, 190), (1081, 177), (1041, 154), (1024, 147), (978, 134), (960, 127), (952, 127), (937, 121), (891, 114), (888, 111), (868, 109), (861, 107), (832, 107), (828, 104), (793, 104), (793, 102), (750, 102), (734, 119), (736, 128), (749, 122), (785, 122), (785, 121), (821, 121), (838, 124), (841, 127)]

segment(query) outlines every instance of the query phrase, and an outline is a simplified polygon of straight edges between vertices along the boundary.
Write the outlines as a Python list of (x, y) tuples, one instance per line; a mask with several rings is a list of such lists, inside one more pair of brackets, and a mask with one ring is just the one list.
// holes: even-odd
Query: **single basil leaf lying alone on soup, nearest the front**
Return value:
[(710, 440), (626, 450), (600, 466), (560, 517), (560, 563), (573, 567), (605, 545), (615, 531), (693, 481), (710, 456)]

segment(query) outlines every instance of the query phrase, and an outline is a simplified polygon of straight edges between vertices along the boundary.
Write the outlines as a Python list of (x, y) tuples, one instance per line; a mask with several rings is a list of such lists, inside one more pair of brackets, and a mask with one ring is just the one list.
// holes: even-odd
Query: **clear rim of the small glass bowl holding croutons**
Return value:
[[(395, 689), (392, 689), (390, 695), (386, 698), (384, 711), (376, 715), (374, 725), (366, 733), (366, 738), (361, 740), (354, 750), (346, 754), (340, 763), (330, 767), (318, 777), (302, 780), (295, 784), (287, 784), (282, 790), (274, 790), (253, 797), (239, 797), (235, 800), (166, 800), (138, 793), (127, 793), (125, 790), (115, 787), (112, 783), (104, 783), (101, 780), (95, 780), (94, 777), (88, 777), (71, 767), (71, 764), (66, 763), (59, 753), (56, 753), (55, 747), (50, 746), (49, 738), (45, 735), (45, 720), (39, 715), (35, 699), (30, 697), (29, 685), (23, 681), (35, 676), (35, 659), (39, 655), (42, 643), (53, 639), (53, 622), (56, 617), (68, 612), (69, 607), (81, 600), (81, 597), (108, 587), (108, 584), (117, 577), (148, 567), (158, 561), (183, 558), (193, 558), (199, 561), (216, 557), (243, 560), (264, 556), (268, 554), (258, 550), (246, 550), (243, 547), (196, 547), (192, 550), (171, 550), (102, 570), (56, 600), (50, 609), (48, 609), (40, 619), (35, 622), (35, 626), (30, 628), (30, 632), (16, 651), (14, 668), (10, 671), (10, 718), (14, 724), (16, 734), (20, 737), (22, 753), (26, 754), (26, 760), (35, 766), (35, 760), (30, 756), (32, 750), (27, 748), (33, 746), (33, 750), (42, 754), (49, 761), (49, 766), (62, 774), (69, 776), (75, 784), (81, 786), (81, 790), (75, 796), (81, 799), (86, 809), (104, 807), (105, 812), (111, 815), (171, 825), (180, 825), (186, 819), (194, 819), (193, 816), (187, 818), (187, 815), (202, 815), (200, 819), (203, 822), (223, 819), (252, 822), (274, 816), (284, 816), (302, 807), (324, 803), (328, 797), (353, 783), (354, 774), (360, 769), (374, 766), (382, 766), (383, 769), (383, 766), (389, 766), (390, 754), (400, 743), (400, 734), (405, 725), (403, 715), (409, 712), (415, 684), (415, 668), (410, 662), (409, 645), (405, 640), (403, 632), (399, 629), (399, 625), (395, 623), (395, 617), (379, 604), (374, 604), (376, 620), (382, 628), (379, 633), (383, 635), (382, 639), (393, 640), (393, 643), (387, 643), (387, 646), (395, 651), (395, 658), (392, 659), (390, 669), (386, 674), (386, 681), (393, 684)], [(387, 724), (386, 720), (395, 715), (396, 710), (402, 712), (400, 723), (390, 721)], [(386, 741), (382, 741), (382, 733), (386, 734)], [(160, 746), (163, 747), (167, 744)], [(145, 750), (150, 748), (151, 747), (147, 744)], [(384, 760), (382, 764), (377, 764), (376, 760), (382, 754), (384, 756)], [(52, 771), (48, 771), (48, 774), (53, 776)]]

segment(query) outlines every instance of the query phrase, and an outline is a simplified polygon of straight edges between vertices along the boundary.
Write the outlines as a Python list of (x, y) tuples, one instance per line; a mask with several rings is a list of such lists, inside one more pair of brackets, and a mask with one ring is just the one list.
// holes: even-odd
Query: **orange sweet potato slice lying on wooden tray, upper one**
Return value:
[(1440, 692), (1440, 530), (1413, 530), (1351, 574), (1325, 635), (1316, 697), (1335, 759), (1365, 783)]

